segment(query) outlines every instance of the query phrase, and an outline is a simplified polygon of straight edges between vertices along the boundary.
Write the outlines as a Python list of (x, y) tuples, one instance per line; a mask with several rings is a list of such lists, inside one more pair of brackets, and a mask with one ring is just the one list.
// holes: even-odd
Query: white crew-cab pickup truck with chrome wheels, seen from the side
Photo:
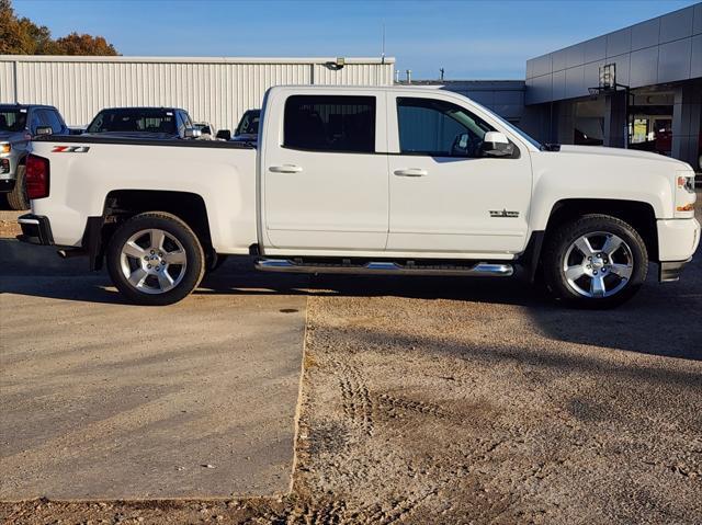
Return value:
[(700, 240), (689, 164), (542, 146), (475, 102), (421, 88), (279, 87), (258, 149), (52, 137), (26, 162), (22, 240), (106, 260), (131, 301), (189, 295), (218, 255), (274, 272), (543, 276), (610, 307), (648, 263), (675, 281)]

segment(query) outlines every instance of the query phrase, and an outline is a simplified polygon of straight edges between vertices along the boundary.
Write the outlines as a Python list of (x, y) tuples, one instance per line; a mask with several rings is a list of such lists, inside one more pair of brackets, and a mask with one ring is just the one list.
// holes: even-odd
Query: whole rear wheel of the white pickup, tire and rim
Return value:
[(131, 303), (147, 306), (178, 303), (205, 272), (197, 236), (165, 212), (139, 214), (124, 222), (110, 239), (106, 263), (117, 289)]

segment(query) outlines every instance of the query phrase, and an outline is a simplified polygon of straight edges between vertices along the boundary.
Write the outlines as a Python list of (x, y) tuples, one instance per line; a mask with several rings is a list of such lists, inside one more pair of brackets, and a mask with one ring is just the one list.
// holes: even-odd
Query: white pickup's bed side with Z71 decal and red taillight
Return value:
[(32, 202), (50, 215), (54, 242), (81, 246), (87, 218), (101, 217), (117, 192), (148, 191), (193, 196), (206, 209), (213, 248), (248, 253), (257, 242), (257, 151), (216, 140), (155, 140), (61, 136), (32, 142), (32, 153), (50, 161), (50, 194)]

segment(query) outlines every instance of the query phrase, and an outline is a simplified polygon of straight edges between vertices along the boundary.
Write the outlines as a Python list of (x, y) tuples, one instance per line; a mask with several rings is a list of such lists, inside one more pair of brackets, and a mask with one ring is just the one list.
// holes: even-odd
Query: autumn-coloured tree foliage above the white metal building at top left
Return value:
[(19, 19), (11, 0), (0, 0), (0, 55), (118, 55), (102, 36), (71, 33), (54, 39), (45, 25)]

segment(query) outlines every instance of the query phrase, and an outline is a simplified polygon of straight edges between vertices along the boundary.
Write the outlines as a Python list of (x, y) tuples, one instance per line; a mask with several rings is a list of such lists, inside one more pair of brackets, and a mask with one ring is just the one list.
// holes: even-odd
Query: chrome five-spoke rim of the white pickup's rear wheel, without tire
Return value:
[(122, 274), (144, 294), (163, 294), (176, 287), (185, 275), (183, 246), (168, 231), (140, 230), (122, 247)]

